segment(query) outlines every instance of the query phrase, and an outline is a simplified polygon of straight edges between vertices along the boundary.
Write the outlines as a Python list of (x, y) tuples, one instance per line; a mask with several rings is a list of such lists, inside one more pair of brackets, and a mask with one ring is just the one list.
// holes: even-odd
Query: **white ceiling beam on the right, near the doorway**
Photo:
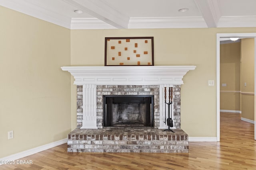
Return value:
[(194, 0), (198, 10), (201, 11), (207, 26), (218, 27), (221, 16), (219, 0)]

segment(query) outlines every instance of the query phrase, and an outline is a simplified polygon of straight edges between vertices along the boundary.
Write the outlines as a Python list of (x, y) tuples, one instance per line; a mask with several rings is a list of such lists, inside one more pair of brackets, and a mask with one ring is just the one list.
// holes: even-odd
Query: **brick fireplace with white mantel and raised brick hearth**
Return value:
[[(77, 85), (77, 129), (68, 136), (68, 152), (188, 152), (180, 129), (180, 85), (195, 66), (68, 66)], [(164, 123), (164, 87), (173, 87), (175, 134)], [(104, 127), (104, 96), (153, 96), (152, 124)], [(122, 106), (124, 107), (124, 106)], [(127, 107), (127, 106), (126, 106)], [(148, 118), (149, 119), (149, 118)]]

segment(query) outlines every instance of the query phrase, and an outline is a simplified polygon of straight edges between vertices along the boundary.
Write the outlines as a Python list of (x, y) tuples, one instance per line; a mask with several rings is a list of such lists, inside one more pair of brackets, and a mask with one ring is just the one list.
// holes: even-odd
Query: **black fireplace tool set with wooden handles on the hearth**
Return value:
[[(173, 127), (173, 121), (172, 121), (172, 94), (173, 94), (173, 88), (169, 87), (169, 102), (166, 102), (166, 87), (164, 87), (164, 104), (165, 104), (165, 118), (164, 118), (164, 123), (168, 125), (168, 129), (165, 129), (163, 131), (172, 131), (173, 133), (175, 133), (172, 129), (170, 129), (170, 127)], [(166, 105), (168, 105), (168, 118), (166, 119)], [(171, 110), (170, 110), (170, 106), (171, 106)], [(170, 117), (171, 115), (171, 117)]]

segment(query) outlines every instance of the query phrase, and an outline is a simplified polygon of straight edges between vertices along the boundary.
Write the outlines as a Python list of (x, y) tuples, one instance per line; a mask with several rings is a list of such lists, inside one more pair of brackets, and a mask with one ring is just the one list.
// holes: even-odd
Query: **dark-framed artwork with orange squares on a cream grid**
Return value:
[(154, 37), (105, 37), (105, 66), (153, 66)]

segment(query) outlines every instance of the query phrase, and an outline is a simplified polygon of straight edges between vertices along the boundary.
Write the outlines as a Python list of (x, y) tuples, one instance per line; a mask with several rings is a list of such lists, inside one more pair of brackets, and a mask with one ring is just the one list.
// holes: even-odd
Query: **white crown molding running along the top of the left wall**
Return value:
[(71, 18), (48, 10), (33, 0), (0, 0), (0, 5), (70, 29)]

